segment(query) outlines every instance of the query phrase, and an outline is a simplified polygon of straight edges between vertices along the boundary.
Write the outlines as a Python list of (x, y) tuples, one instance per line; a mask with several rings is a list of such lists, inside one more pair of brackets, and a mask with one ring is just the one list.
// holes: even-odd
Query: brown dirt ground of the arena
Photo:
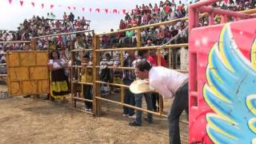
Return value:
[[(109, 102), (103, 103), (99, 118), (68, 106), (33, 98), (0, 98), (0, 143), (169, 142), (166, 118), (154, 116), (153, 124), (143, 121), (142, 126), (132, 127), (128, 122), (133, 119), (122, 117), (122, 107)], [(182, 119), (186, 120), (185, 114)], [(180, 126), (182, 143), (188, 143), (188, 126), (183, 123)]]

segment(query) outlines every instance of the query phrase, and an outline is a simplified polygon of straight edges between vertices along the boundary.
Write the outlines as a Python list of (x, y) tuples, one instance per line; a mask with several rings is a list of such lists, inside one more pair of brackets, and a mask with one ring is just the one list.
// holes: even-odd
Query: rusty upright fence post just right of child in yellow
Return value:
[(94, 107), (94, 115), (100, 116), (102, 112), (102, 104), (96, 97), (101, 97), (100, 94), (100, 85), (96, 83), (98, 80), (98, 71), (96, 66), (99, 65), (99, 54), (96, 50), (99, 48), (99, 37), (97, 35), (93, 35), (93, 107)]

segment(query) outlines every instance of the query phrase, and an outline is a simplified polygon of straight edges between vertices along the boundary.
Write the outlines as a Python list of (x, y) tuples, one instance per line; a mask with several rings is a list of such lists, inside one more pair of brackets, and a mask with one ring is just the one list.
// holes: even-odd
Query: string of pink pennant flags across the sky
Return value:
[[(13, 0), (8, 0), (10, 5), (13, 3)], [(19, 4), (20, 6), (23, 6), (24, 4), (29, 4), (29, 2), (24, 2), (24, 0), (19, 0)], [(30, 2), (31, 6), (41, 6), (42, 9), (44, 9), (45, 4), (44, 3), (36, 3), (36, 2)], [(59, 5), (61, 6), (61, 5)], [(54, 9), (54, 7), (56, 7), (54, 4), (50, 4), (49, 5), (50, 9)], [(62, 7), (66, 7), (68, 10), (78, 10), (76, 6), (62, 6)], [(86, 7), (80, 7), (79, 10), (82, 10), (82, 12), (90, 12), (90, 13), (106, 13), (106, 14), (126, 14), (126, 13), (130, 13), (130, 10), (126, 10), (126, 9), (100, 9), (100, 8), (86, 8)]]

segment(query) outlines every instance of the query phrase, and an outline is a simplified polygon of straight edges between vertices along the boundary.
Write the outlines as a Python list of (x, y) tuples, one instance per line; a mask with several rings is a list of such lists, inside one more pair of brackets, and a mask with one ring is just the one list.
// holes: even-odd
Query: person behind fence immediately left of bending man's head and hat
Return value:
[[(123, 62), (124, 67), (133, 67), (133, 62), (135, 61), (134, 50), (128, 50), (128, 55)], [(135, 74), (133, 70), (123, 70), (122, 82), (126, 86), (130, 86), (132, 82), (135, 80)], [(130, 92), (130, 90), (125, 90), (125, 103), (131, 106), (135, 106), (135, 97), (134, 94)], [(126, 106), (123, 107), (123, 116), (129, 116), (130, 118), (134, 118), (136, 115), (134, 114), (134, 109), (128, 108)]]

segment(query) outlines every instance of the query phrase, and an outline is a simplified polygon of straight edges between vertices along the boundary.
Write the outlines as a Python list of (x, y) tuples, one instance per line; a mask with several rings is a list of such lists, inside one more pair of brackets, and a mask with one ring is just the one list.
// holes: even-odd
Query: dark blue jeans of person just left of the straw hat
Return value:
[[(130, 80), (123, 80), (123, 84), (126, 86), (130, 86), (131, 82)], [(131, 106), (135, 106), (135, 97), (134, 94), (129, 90), (125, 90), (125, 103)], [(134, 109), (128, 108), (126, 106), (123, 107), (123, 114), (129, 114), (130, 116), (134, 115)]]

